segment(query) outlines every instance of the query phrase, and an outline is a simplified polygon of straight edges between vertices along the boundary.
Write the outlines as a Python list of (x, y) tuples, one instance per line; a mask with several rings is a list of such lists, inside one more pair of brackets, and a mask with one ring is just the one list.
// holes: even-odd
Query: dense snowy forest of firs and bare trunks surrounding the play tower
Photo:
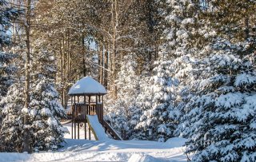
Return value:
[(255, 1), (0, 0), (0, 150), (56, 149), (70, 86), (108, 90), (126, 139), (256, 160)]

